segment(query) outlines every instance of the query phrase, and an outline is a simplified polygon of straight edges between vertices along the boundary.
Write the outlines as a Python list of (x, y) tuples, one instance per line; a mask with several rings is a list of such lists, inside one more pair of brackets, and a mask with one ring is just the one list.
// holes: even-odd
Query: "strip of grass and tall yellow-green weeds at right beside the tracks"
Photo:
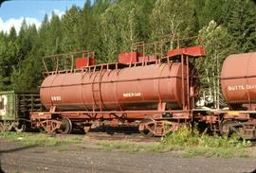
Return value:
[(256, 150), (251, 149), (249, 141), (241, 141), (238, 136), (200, 135), (196, 130), (183, 128), (163, 137), (161, 142), (155, 144), (137, 144), (131, 141), (101, 142), (101, 147), (107, 150), (123, 151), (181, 151), (184, 157), (256, 157)]

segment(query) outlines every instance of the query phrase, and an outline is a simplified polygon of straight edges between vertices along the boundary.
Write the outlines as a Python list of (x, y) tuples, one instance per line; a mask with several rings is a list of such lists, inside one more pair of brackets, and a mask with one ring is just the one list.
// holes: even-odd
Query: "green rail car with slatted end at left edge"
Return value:
[(29, 112), (42, 110), (39, 93), (0, 92), (0, 131), (24, 131), (30, 125)]

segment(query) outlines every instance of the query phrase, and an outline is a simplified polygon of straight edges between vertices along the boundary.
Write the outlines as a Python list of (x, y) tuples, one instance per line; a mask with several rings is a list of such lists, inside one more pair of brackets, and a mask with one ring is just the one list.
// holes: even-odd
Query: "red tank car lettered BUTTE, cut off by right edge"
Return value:
[(228, 108), (203, 117), (211, 130), (237, 132), (244, 139), (256, 139), (256, 52), (230, 55), (223, 63), (221, 88)]

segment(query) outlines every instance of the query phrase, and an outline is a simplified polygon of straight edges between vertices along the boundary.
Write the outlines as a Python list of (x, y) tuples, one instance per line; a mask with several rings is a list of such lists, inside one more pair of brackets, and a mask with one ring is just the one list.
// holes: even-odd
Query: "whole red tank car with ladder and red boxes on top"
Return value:
[(31, 126), (62, 133), (133, 126), (146, 136), (190, 126), (198, 95), (191, 62), (204, 48), (179, 48), (179, 41), (134, 43), (113, 63), (94, 64), (89, 51), (44, 57), (40, 97), (47, 111), (30, 112)]

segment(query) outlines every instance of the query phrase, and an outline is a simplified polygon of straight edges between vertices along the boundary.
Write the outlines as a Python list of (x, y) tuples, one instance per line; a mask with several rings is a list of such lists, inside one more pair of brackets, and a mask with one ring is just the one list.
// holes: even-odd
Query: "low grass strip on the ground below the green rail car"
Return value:
[(81, 138), (75, 136), (56, 137), (44, 133), (20, 133), (20, 132), (1, 132), (0, 137), (11, 141), (19, 142), (24, 146), (56, 147), (67, 144), (81, 143)]

